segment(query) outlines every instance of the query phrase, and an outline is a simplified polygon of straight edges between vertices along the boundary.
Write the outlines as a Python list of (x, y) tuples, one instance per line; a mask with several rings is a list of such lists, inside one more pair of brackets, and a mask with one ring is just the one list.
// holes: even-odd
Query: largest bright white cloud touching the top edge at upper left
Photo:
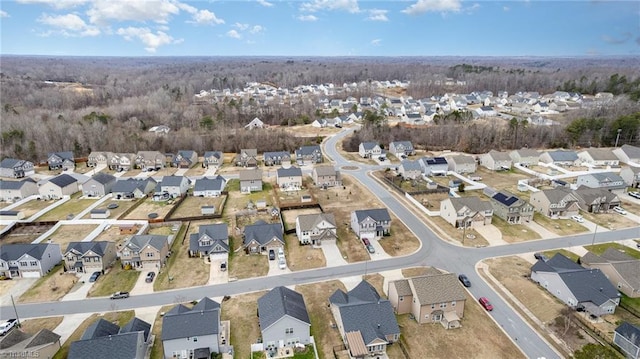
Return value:
[(180, 13), (180, 9), (195, 9), (192, 6), (172, 0), (154, 1), (112, 1), (96, 0), (87, 11), (91, 23), (108, 25), (109, 21), (153, 21), (166, 24), (173, 15)]

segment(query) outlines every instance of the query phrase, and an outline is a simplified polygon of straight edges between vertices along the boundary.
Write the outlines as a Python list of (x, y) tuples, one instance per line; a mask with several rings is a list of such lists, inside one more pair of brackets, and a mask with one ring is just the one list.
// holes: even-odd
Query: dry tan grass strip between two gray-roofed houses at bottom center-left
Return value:
[[(252, 343), (260, 338), (258, 326), (258, 298), (266, 292), (257, 292), (233, 296), (222, 303), (221, 320), (231, 321), (231, 339), (234, 357), (250, 358)], [(306, 299), (306, 298), (305, 298)]]

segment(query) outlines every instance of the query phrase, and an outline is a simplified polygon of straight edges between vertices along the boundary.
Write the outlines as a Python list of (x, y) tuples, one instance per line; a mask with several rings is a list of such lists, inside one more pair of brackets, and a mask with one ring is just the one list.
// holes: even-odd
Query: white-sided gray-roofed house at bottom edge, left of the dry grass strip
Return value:
[(202, 298), (189, 309), (178, 304), (162, 317), (164, 358), (209, 359), (226, 345), (220, 304)]

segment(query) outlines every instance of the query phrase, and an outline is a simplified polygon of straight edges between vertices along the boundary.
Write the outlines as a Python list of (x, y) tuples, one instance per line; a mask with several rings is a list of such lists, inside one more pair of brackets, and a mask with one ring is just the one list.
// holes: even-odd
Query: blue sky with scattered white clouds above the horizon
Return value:
[(2, 0), (0, 54), (640, 56), (640, 1)]

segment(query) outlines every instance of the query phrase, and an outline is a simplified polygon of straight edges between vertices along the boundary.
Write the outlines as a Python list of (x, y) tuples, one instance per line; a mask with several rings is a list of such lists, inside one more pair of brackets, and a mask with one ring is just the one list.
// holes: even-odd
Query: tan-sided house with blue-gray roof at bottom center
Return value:
[(391, 302), (364, 280), (346, 293), (336, 290), (329, 297), (329, 307), (351, 357), (384, 355), (387, 345), (400, 339)]

